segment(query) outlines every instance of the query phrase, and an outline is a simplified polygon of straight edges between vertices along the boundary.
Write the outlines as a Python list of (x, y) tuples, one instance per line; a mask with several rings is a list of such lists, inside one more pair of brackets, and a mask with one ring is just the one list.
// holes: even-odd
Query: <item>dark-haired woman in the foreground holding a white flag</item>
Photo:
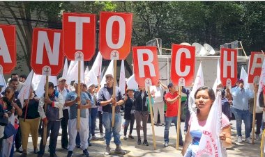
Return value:
[[(206, 124), (206, 120), (211, 110), (211, 106), (215, 101), (215, 93), (212, 88), (201, 87), (195, 92), (195, 104), (197, 113), (190, 115), (188, 132), (185, 135), (185, 143), (181, 154), (185, 157), (196, 156), (199, 142), (202, 137), (202, 131)], [(230, 147), (231, 141), (231, 126), (229, 119), (222, 113), (222, 133), (219, 138), (222, 141), (223, 147)]]

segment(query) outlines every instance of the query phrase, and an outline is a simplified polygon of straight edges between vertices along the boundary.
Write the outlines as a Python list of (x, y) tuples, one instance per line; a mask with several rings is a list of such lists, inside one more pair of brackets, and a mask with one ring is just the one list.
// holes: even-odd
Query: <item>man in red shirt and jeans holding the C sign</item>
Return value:
[[(165, 101), (167, 103), (167, 111), (166, 111), (166, 122), (165, 122), (165, 131), (164, 131), (164, 147), (168, 147), (169, 142), (169, 128), (170, 124), (174, 122), (176, 126), (176, 122), (178, 119), (178, 108), (179, 108), (179, 99), (181, 98), (179, 93), (176, 91), (176, 86), (173, 83), (169, 83), (167, 85), (169, 92), (165, 94)], [(179, 131), (179, 145), (183, 146), (183, 140), (181, 131)]]

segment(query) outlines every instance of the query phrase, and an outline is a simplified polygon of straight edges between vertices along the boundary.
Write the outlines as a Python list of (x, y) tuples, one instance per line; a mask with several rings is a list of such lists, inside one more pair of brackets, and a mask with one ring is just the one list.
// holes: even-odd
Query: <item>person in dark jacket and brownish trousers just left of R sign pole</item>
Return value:
[(136, 131), (137, 131), (137, 144), (141, 144), (141, 135), (140, 135), (140, 129), (141, 129), (141, 122), (143, 126), (143, 132), (144, 132), (144, 142), (143, 144), (148, 146), (149, 143), (147, 142), (146, 137), (146, 124), (149, 117), (149, 112), (147, 108), (146, 98), (148, 98), (148, 94), (145, 91), (144, 87), (139, 87), (139, 90), (135, 92), (135, 121), (136, 121)]

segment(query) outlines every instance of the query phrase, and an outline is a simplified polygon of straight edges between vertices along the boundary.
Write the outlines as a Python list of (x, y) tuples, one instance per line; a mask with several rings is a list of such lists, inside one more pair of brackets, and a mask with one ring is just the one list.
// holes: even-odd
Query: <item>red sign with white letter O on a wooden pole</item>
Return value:
[(100, 13), (100, 53), (105, 60), (125, 60), (130, 53), (131, 13)]

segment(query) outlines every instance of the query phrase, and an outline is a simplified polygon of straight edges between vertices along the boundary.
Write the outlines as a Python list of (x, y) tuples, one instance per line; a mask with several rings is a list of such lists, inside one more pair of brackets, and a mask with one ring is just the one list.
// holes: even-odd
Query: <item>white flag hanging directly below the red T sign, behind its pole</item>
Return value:
[[(81, 61), (81, 67), (80, 67), (80, 81), (84, 81), (84, 61)], [(77, 60), (71, 60), (70, 65), (68, 67), (68, 72), (66, 75), (66, 82), (68, 85), (72, 81), (78, 80), (78, 61)]]

